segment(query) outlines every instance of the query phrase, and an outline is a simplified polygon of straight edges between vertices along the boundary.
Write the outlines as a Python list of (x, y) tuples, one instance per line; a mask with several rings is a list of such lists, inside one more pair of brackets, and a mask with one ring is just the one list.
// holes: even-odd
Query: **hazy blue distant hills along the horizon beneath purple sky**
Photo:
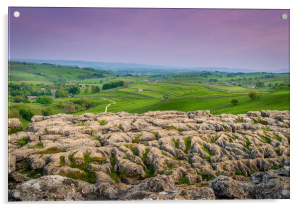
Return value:
[(132, 70), (132, 71), (223, 71), (223, 72), (273, 72), (284, 73), (289, 72), (289, 69), (282, 68), (276, 70), (256, 70), (249, 68), (227, 68), (227, 67), (180, 67), (180, 66), (165, 66), (152, 64), (139, 64), (127, 62), (97, 62), (97, 61), (81, 61), (81, 60), (43, 60), (43, 59), (11, 59), (15, 61), (26, 61), (34, 63), (52, 63), (57, 65), (93, 67), (104, 70)]

